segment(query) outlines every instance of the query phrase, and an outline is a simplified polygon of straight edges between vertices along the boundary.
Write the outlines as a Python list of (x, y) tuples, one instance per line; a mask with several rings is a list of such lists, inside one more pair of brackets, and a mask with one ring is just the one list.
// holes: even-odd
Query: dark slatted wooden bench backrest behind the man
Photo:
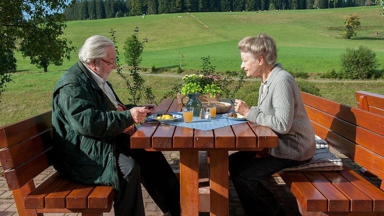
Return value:
[(0, 128), (0, 161), (10, 190), (51, 165), (51, 111)]

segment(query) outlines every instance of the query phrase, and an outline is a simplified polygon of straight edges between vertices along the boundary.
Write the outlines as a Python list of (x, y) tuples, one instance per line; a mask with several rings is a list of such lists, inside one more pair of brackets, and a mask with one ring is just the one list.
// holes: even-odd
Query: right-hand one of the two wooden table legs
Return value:
[(228, 151), (209, 151), (210, 215), (228, 216)]

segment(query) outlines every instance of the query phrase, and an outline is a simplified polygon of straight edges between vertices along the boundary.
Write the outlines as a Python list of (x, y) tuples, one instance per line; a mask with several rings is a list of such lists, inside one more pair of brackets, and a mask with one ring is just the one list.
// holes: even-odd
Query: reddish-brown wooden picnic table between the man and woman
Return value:
[[(180, 111), (177, 99), (164, 99), (157, 112)], [(208, 151), (210, 215), (228, 215), (228, 151), (277, 147), (268, 127), (244, 121), (213, 130), (144, 122), (131, 136), (131, 148), (180, 152), (180, 204), (183, 216), (198, 215), (198, 151)]]

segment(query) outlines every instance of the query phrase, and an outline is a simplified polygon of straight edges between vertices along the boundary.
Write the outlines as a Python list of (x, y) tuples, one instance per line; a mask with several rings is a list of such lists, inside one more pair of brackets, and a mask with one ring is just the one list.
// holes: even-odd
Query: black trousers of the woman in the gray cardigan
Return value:
[(290, 166), (307, 162), (277, 158), (271, 155), (255, 157), (252, 151), (238, 151), (229, 155), (229, 173), (245, 215), (285, 215), (283, 209), (260, 179)]

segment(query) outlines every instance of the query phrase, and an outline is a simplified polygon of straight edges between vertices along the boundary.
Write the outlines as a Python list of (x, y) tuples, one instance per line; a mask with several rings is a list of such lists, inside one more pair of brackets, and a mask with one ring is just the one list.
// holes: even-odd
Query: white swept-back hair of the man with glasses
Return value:
[(102, 59), (106, 55), (106, 47), (113, 46), (113, 42), (107, 37), (93, 35), (88, 37), (78, 51), (78, 59), (83, 63), (90, 63), (96, 59)]

